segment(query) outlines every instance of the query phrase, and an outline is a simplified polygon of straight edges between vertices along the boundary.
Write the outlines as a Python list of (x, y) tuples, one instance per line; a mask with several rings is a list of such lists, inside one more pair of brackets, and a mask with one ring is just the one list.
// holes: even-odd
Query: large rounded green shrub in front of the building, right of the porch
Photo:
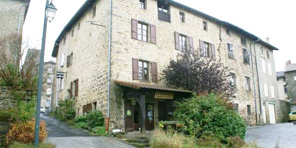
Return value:
[(228, 100), (219, 95), (193, 94), (192, 98), (177, 103), (174, 114), (185, 123), (185, 133), (196, 138), (214, 135), (226, 142), (230, 136), (244, 138), (246, 133), (244, 120), (233, 111)]

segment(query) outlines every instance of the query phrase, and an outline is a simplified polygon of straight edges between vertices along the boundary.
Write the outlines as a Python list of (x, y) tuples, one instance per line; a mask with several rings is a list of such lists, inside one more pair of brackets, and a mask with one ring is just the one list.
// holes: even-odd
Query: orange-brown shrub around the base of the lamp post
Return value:
[[(40, 121), (39, 125), (39, 141), (43, 142), (47, 137), (45, 122)], [(7, 133), (6, 142), (20, 142), (24, 144), (33, 143), (35, 138), (35, 120), (28, 122), (17, 122), (11, 125), (11, 129)]]

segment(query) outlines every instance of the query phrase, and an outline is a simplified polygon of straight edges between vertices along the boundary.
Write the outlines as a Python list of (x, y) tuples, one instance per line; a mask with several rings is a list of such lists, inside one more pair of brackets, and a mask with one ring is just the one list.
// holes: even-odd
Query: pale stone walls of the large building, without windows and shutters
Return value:
[[(93, 0), (87, 2), (89, 1)], [(83, 105), (94, 102), (98, 103), (96, 106), (98, 110), (102, 110), (104, 113), (107, 111), (109, 0), (94, 1), (92, 5), (87, 5), (87, 10), (84, 13), (78, 13), (81, 16), (78, 20), (72, 22), (74, 23), (72, 26), (66, 27), (67, 29), (57, 39), (56, 43), (59, 46), (53, 51), (53, 55), (57, 57), (56, 63), (58, 63), (55, 72), (66, 73), (64, 89), (59, 89), (59, 82), (55, 79), (54, 91), (58, 90), (58, 92), (54, 93), (54, 98), (69, 98), (71, 82), (79, 79), (78, 96), (75, 97), (78, 114), (82, 114)], [(94, 6), (97, 10), (95, 16), (92, 13)], [(165, 86), (162, 71), (171, 59), (176, 59), (177, 54), (181, 53), (180, 50), (175, 49), (174, 34), (178, 32), (193, 38), (195, 50), (200, 50), (199, 40), (215, 45), (216, 58), (229, 67), (231, 73), (235, 74), (236, 99), (233, 100), (233, 103), (238, 104), (238, 112), (248, 125), (259, 124), (260, 105), (262, 103), (259, 100), (257, 72), (260, 67), (257, 70), (255, 66), (255, 56), (258, 57), (259, 52), (258, 50), (255, 51), (253, 47), (251, 50), (249, 46), (254, 41), (254, 37), (244, 36), (235, 30), (231, 30), (231, 34), (227, 34), (229, 28), (214, 19), (209, 19), (176, 4), (171, 4), (169, 7), (170, 23), (158, 19), (157, 0), (147, 0), (147, 9), (139, 8), (139, 0), (112, 0), (111, 81), (119, 80)], [(185, 14), (185, 23), (180, 22), (180, 11)], [(150, 33), (148, 42), (132, 39), (132, 19), (156, 26), (156, 44), (150, 43)], [(86, 21), (96, 21), (96, 24), (106, 27), (91, 25)], [(203, 29), (203, 21), (207, 22), (207, 31)], [(150, 29), (148, 30), (150, 31)], [(242, 36), (246, 37), (245, 45), (241, 43)], [(233, 59), (228, 58), (227, 43), (233, 45)], [(261, 41), (256, 44), (256, 48), (264, 46), (263, 44), (266, 45), (267, 43)], [(243, 48), (251, 53), (250, 64), (243, 62)], [(264, 48), (267, 49), (268, 47), (264, 46)], [(272, 64), (272, 76), (269, 78), (272, 79), (273, 84), (276, 75), (274, 59), (272, 50), (267, 50), (271, 55), (269, 62)], [(66, 66), (67, 56), (72, 57), (69, 66)], [(151, 81), (151, 70), (148, 70), (148, 81), (134, 80), (132, 76), (133, 58), (149, 61), (148, 69), (151, 69), (151, 62), (156, 62), (158, 82)], [(250, 78), (250, 91), (246, 91), (246, 76)], [(262, 77), (264, 75), (259, 74), (259, 79)], [(274, 87), (277, 90), (276, 83)], [(52, 107), (55, 108), (54, 100)], [(251, 114), (248, 114), (248, 105), (251, 106)]]

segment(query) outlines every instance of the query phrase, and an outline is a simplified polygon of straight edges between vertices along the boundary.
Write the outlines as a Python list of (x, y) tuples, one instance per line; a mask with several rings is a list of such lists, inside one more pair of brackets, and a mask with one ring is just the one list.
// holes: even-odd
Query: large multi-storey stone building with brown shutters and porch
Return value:
[[(101, 110), (110, 115), (107, 126), (126, 132), (139, 127), (151, 130), (158, 121), (170, 120), (173, 100), (190, 92), (167, 87), (162, 71), (185, 48), (219, 59), (230, 68), (229, 79), (236, 90), (233, 106), (249, 125), (264, 123), (262, 107), (268, 99), (260, 97), (259, 88), (265, 83), (274, 89), (269, 93), (273, 112), (268, 108), (264, 114), (278, 118), (277, 103), (272, 100), (278, 99), (274, 91), (276, 47), (173, 0), (112, 0), (111, 15), (109, 6), (110, 0), (86, 0), (57, 38), (52, 52), (57, 58), (55, 73), (65, 73), (64, 79), (55, 79), (54, 98), (74, 96), (77, 114)], [(264, 66), (260, 65), (259, 48), (264, 50), (264, 66), (269, 68), (264, 73), (260, 72)], [(112, 98), (109, 80), (124, 88), (123, 105), (117, 103), (120, 97)]]

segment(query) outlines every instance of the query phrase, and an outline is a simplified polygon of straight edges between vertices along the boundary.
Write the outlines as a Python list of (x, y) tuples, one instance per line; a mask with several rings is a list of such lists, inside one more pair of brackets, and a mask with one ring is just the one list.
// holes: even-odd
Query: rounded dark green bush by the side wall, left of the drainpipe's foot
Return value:
[(104, 115), (102, 111), (92, 111), (86, 114), (86, 123), (89, 127), (104, 125)]

